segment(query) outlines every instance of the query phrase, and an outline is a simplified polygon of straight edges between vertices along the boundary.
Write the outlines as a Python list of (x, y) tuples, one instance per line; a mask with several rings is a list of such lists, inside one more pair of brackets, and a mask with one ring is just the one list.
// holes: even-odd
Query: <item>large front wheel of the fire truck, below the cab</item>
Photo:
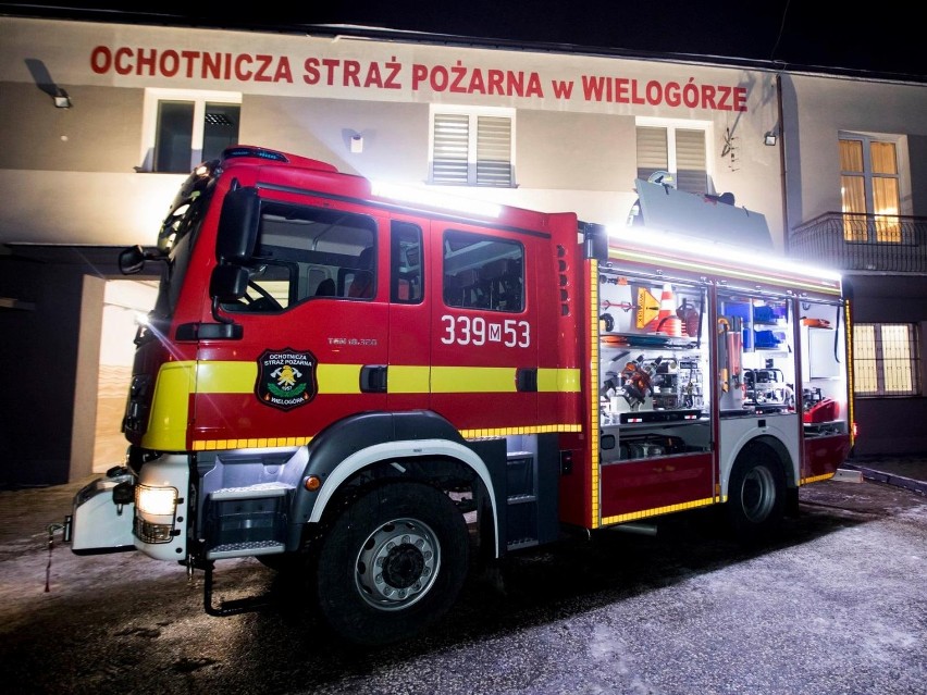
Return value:
[(322, 615), (355, 644), (407, 640), (454, 604), (468, 555), (467, 524), (447, 495), (420, 483), (372, 489), (335, 520), (322, 544)]

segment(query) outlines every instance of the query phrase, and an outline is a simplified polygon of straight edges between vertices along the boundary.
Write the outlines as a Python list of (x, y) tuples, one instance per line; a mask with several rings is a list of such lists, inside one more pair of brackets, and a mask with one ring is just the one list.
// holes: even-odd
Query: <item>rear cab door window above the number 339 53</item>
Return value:
[(444, 303), (459, 309), (524, 309), (524, 248), (469, 232), (444, 233)]

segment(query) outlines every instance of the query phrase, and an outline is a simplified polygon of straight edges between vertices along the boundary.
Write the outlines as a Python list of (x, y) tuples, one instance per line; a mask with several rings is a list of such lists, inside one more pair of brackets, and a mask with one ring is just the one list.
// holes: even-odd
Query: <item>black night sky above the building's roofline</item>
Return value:
[[(299, 30), (348, 24), (529, 44), (768, 61), (927, 82), (927, 28), (914, 5), (663, 0), (289, 0), (260, 2), (0, 2), (0, 13), (76, 11), (82, 18)], [(48, 8), (55, 8), (48, 10)], [(100, 12), (86, 13), (85, 10)], [(547, 46), (549, 48), (549, 46)]]

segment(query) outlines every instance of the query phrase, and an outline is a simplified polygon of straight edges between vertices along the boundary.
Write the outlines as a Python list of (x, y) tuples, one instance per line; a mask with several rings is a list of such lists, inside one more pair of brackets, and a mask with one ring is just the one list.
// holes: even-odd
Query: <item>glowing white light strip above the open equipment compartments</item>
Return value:
[(640, 226), (609, 226), (607, 227), (607, 232), (609, 238), (617, 241), (625, 241), (631, 246), (648, 246), (659, 250), (672, 249), (673, 252), (681, 252), (708, 261), (724, 259), (725, 264), (734, 263), (744, 268), (774, 270), (805, 276), (812, 275), (831, 282), (840, 282), (842, 277), (840, 273), (831, 269), (806, 265), (775, 255), (764, 255), (762, 262), (758, 262), (756, 253), (746, 249), (718, 244), (708, 239), (690, 239), (659, 229), (650, 229)]

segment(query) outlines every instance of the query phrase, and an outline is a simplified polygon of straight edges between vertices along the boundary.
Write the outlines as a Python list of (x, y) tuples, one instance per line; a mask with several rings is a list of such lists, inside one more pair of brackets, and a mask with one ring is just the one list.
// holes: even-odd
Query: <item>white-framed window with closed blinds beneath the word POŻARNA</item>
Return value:
[(515, 186), (512, 109), (432, 109), (429, 183)]

